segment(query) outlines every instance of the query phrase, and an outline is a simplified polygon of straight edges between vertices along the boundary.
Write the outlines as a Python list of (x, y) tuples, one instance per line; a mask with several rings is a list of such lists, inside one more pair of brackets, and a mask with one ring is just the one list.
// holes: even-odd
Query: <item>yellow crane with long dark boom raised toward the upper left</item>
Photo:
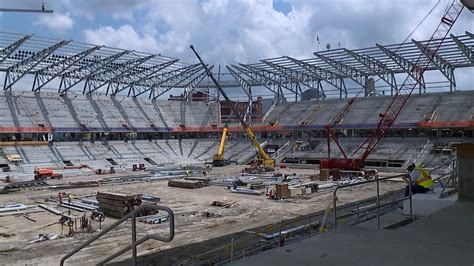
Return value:
[(255, 146), (255, 148), (257, 149), (257, 160), (256, 160), (256, 167), (257, 168), (263, 168), (263, 169), (266, 169), (266, 170), (273, 170), (273, 168), (275, 167), (275, 159), (273, 159), (272, 157), (270, 157), (266, 152), (265, 150), (262, 148), (262, 146), (260, 145), (260, 143), (258, 143), (257, 141), (257, 138), (255, 137), (255, 135), (253, 134), (252, 130), (250, 129), (249, 125), (244, 121), (244, 119), (242, 118), (242, 116), (237, 112), (237, 110), (235, 109), (234, 105), (232, 104), (232, 101), (229, 99), (229, 96), (227, 96), (227, 94), (225, 93), (224, 89), (222, 89), (221, 85), (219, 84), (219, 82), (217, 82), (216, 78), (214, 77), (214, 75), (212, 74), (211, 70), (207, 67), (207, 65), (204, 63), (204, 61), (202, 61), (201, 57), (199, 56), (199, 54), (196, 52), (196, 50), (194, 50), (194, 47), (191, 45), (190, 46), (191, 50), (193, 50), (194, 54), (196, 55), (196, 57), (198, 58), (199, 62), (202, 64), (202, 66), (204, 67), (204, 69), (206, 70), (206, 73), (207, 75), (211, 78), (212, 82), (216, 85), (217, 89), (219, 90), (219, 92), (222, 94), (222, 96), (224, 96), (224, 99), (226, 100), (226, 102), (229, 104), (232, 112), (234, 112), (235, 116), (237, 117), (237, 119), (239, 120), (240, 124), (242, 125), (242, 127), (244, 128), (245, 130), (245, 133), (247, 133), (247, 136), (249, 137), (250, 141), (252, 142), (252, 144)]

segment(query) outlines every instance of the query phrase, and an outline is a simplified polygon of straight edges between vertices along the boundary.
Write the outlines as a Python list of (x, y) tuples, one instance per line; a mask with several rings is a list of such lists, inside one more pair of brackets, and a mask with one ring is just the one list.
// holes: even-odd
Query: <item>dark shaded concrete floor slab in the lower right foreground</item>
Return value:
[(234, 265), (473, 265), (474, 204), (455, 203), (396, 230), (350, 226)]

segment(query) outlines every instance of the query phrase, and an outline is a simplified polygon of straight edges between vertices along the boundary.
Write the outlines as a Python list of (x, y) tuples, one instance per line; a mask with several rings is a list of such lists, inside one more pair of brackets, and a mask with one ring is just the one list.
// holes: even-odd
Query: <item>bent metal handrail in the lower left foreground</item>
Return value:
[[(152, 234), (152, 235), (147, 235), (140, 240), (137, 240), (137, 214), (140, 213), (143, 210), (158, 210), (158, 211), (166, 211), (168, 213), (168, 220), (169, 220), (169, 235), (166, 237), (160, 236), (158, 234)], [(79, 247), (75, 248), (74, 250), (70, 251), (67, 253), (64, 257), (61, 258), (60, 265), (63, 266), (64, 262), (82, 250), (83, 248), (89, 246), (92, 242), (96, 241), (103, 235), (107, 234), (111, 230), (115, 229), (117, 226), (122, 224), (123, 222), (127, 221), (128, 219), (131, 218), (131, 223), (132, 223), (132, 244), (124, 247), (123, 249), (117, 251), (116, 253), (112, 254), (111, 256), (107, 257), (106, 259), (102, 260), (101, 262), (97, 263), (97, 265), (104, 265), (105, 263), (117, 258), (118, 256), (124, 254), (125, 252), (129, 251), (130, 249), (132, 250), (132, 265), (137, 265), (137, 246), (150, 240), (158, 240), (158, 241), (163, 241), (163, 242), (170, 242), (174, 238), (174, 213), (173, 211), (164, 206), (159, 206), (159, 205), (152, 205), (152, 204), (142, 204), (138, 209), (133, 210), (129, 214), (125, 215), (122, 217), (120, 220), (115, 222), (114, 224), (110, 225), (109, 227), (105, 228), (102, 230), (99, 234), (95, 235), (91, 239), (87, 240), (84, 244), (80, 245)]]

